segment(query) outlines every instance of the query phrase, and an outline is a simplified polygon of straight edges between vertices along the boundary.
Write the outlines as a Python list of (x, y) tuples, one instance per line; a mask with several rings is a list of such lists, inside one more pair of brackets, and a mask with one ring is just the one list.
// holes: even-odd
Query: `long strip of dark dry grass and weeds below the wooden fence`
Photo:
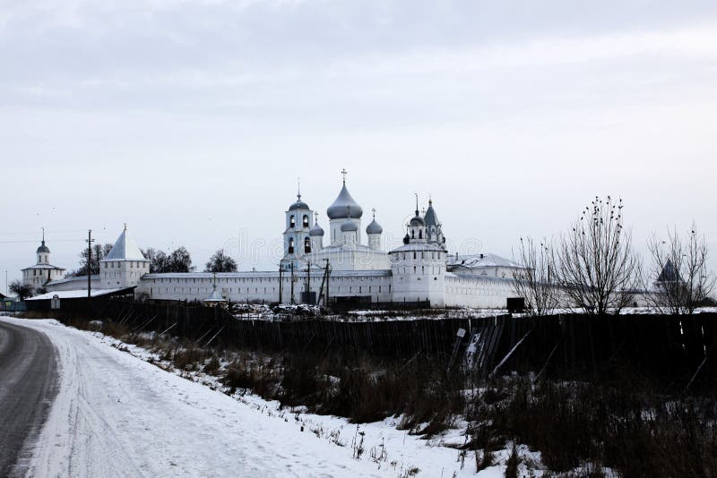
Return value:
[[(64, 321), (90, 327), (86, 320)], [(352, 423), (402, 414), (399, 428), (431, 436), (464, 417), (470, 440), (463, 451), (474, 452), (477, 470), (493, 465), (494, 452), (506, 443), (522, 443), (539, 450), (544, 465), (562, 476), (597, 478), (601, 466), (628, 477), (717, 476), (713, 391), (684, 396), (636, 372), (569, 382), (520, 376), (484, 382), (460, 369), (447, 373), (445, 357), (382, 358), (347, 349), (225, 351), (112, 322), (101, 330), (154, 350), (177, 369), (216, 374), (229, 393), (250, 389)], [(221, 367), (220, 358), (229, 365)], [(471, 398), (463, 394), (467, 388), (482, 392)], [(517, 474), (519, 462), (514, 451), (506, 475)]]

